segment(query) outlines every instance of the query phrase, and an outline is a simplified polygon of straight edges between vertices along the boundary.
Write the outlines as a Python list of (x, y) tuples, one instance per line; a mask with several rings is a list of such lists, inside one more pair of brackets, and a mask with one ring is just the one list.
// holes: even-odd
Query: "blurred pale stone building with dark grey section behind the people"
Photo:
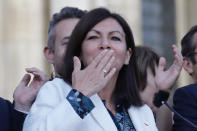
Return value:
[[(197, 22), (196, 5), (197, 0), (0, 0), (0, 96), (12, 100), (27, 67), (52, 72), (43, 47), (49, 20), (62, 7), (107, 7), (120, 13), (136, 44), (153, 47), (170, 65), (171, 45), (180, 47), (183, 35)], [(182, 71), (177, 87), (190, 82)]]

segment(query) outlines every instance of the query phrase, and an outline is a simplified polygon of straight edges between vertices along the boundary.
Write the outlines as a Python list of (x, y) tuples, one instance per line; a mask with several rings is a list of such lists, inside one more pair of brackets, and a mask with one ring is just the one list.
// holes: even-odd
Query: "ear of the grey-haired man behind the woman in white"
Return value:
[(53, 64), (54, 63), (54, 51), (52, 51), (48, 46), (45, 46), (43, 52), (44, 52), (44, 56), (46, 60), (49, 63)]

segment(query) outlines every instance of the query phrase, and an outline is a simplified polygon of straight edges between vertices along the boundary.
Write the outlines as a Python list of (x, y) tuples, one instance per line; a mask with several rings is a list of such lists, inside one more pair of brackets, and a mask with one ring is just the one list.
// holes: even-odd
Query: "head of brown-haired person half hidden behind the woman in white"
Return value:
[[(138, 65), (139, 90), (144, 103), (156, 113), (157, 107), (153, 104), (154, 94), (158, 92), (155, 76), (160, 56), (153, 49), (145, 46), (136, 47), (136, 63)], [(163, 58), (162, 58), (163, 59)]]

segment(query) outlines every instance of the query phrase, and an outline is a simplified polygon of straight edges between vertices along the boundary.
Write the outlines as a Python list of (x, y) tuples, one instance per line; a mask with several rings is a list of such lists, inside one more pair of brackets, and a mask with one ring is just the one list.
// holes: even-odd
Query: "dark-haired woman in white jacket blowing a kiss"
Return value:
[(121, 16), (104, 8), (87, 13), (58, 73), (63, 79), (42, 87), (24, 130), (157, 130), (139, 96), (133, 35)]

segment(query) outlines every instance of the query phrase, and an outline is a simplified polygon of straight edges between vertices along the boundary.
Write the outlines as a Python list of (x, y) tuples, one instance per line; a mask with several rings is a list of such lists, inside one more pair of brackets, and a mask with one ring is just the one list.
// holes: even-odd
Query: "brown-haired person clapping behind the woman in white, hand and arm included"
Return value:
[(167, 101), (167, 98), (164, 96), (169, 96), (168, 92), (176, 82), (183, 64), (183, 57), (178, 48), (172, 45), (172, 50), (174, 53), (174, 62), (167, 70), (164, 70), (165, 58), (160, 57), (149, 47), (136, 47), (140, 96), (143, 102), (146, 103), (155, 114), (159, 131), (171, 130), (171, 111), (166, 109), (165, 106), (159, 107), (162, 105), (162, 101)]

